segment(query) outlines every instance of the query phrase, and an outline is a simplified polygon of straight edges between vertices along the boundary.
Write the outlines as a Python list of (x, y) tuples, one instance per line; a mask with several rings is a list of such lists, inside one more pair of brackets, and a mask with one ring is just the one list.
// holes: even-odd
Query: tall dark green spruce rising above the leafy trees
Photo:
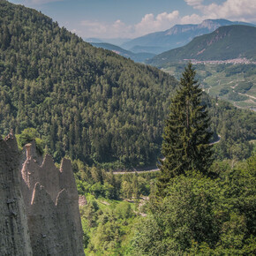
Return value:
[(185, 174), (189, 170), (199, 170), (207, 174), (212, 164), (209, 139), (209, 117), (206, 106), (201, 103), (202, 90), (195, 79), (195, 70), (189, 63), (180, 79), (177, 94), (170, 104), (169, 118), (166, 120), (161, 161), (158, 177), (160, 195), (172, 177)]

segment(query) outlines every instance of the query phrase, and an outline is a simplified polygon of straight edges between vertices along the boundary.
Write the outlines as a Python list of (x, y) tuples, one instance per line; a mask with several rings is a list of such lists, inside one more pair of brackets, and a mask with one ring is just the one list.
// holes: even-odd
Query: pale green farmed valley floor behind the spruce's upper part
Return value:
[[(180, 67), (181, 64), (171, 64), (165, 70), (179, 79), (182, 73)], [(256, 102), (253, 102), (252, 98), (256, 96), (253, 86), (256, 84), (256, 64), (196, 64), (196, 70), (196, 78), (207, 94), (221, 97), (238, 107), (246, 109), (256, 107)], [(208, 73), (211, 75), (207, 76)], [(234, 102), (228, 97), (230, 92), (249, 94), (252, 97), (250, 101), (243, 97), (240, 99), (244, 101)]]

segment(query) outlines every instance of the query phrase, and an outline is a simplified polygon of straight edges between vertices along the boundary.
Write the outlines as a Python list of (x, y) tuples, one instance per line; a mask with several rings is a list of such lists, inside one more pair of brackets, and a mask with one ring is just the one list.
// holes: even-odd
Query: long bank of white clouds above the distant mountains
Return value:
[[(40, 0), (33, 0), (40, 1)], [(44, 0), (49, 1), (49, 0)], [(120, 19), (114, 23), (84, 20), (77, 32), (83, 37), (134, 38), (169, 29), (176, 24), (199, 24), (204, 19), (230, 19), (256, 22), (255, 0), (225, 0), (222, 4), (204, 4), (204, 0), (184, 0), (193, 9), (192, 15), (181, 17), (179, 11), (146, 14), (137, 24), (128, 26)]]

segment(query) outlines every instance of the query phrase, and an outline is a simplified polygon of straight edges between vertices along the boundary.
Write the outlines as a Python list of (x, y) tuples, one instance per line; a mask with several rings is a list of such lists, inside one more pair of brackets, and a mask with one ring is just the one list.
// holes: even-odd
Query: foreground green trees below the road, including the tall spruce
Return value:
[(114, 176), (76, 162), (88, 200), (80, 207), (87, 254), (255, 254), (256, 155), (212, 164), (215, 146), (194, 77), (188, 64), (165, 124), (160, 174)]

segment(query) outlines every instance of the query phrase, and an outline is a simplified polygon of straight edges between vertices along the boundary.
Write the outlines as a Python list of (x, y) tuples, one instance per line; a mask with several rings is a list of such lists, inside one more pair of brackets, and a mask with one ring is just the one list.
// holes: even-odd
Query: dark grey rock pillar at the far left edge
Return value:
[(0, 136), (0, 255), (32, 255), (15, 137)]

